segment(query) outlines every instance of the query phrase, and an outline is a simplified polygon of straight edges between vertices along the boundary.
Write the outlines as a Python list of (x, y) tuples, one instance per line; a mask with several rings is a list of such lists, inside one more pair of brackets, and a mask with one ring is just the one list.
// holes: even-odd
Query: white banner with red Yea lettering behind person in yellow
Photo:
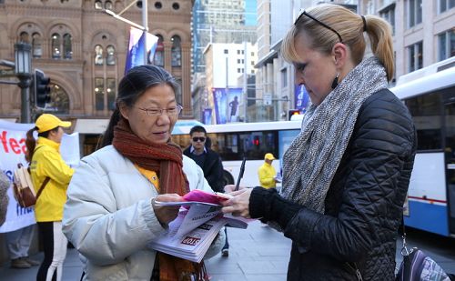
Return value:
[[(0, 169), (13, 181), (13, 174), (18, 163), (28, 166), (25, 161), (25, 134), (33, 128), (34, 124), (18, 124), (0, 120)], [(66, 164), (72, 167), (78, 166), (79, 134), (64, 135), (60, 153)], [(8, 210), (6, 221), (0, 226), (0, 233), (14, 231), (16, 229), (35, 224), (34, 208), (23, 208), (15, 201), (13, 189), (9, 188)]]

